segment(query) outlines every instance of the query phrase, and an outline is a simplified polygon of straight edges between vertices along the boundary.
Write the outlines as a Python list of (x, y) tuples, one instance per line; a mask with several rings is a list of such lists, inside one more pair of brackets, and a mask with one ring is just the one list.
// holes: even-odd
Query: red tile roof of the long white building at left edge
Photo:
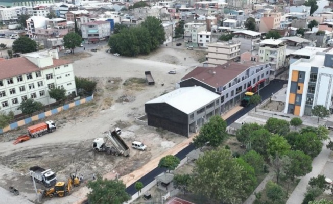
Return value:
[(0, 80), (15, 77), (15, 76), (22, 75), (25, 73), (31, 73), (34, 71), (40, 71), (43, 69), (49, 69), (49, 68), (60, 66), (60, 65), (70, 64), (70, 63), (72, 63), (72, 61), (53, 59), (52, 66), (39, 68), (25, 57), (0, 61)]

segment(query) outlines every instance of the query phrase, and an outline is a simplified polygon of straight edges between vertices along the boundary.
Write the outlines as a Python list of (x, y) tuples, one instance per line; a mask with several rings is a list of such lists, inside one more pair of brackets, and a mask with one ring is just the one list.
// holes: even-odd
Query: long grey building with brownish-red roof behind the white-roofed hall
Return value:
[(270, 66), (258, 62), (227, 62), (216, 67), (196, 67), (179, 82), (180, 87), (202, 86), (221, 96), (221, 112), (240, 103), (246, 91), (269, 83)]

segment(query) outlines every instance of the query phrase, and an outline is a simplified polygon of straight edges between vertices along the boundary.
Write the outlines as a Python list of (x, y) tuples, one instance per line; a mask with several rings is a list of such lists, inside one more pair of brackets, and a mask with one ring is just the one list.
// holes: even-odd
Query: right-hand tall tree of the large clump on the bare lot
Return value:
[(155, 50), (165, 41), (165, 31), (162, 26), (162, 20), (154, 16), (148, 16), (144, 22), (141, 23), (142, 27), (147, 28), (150, 33), (151, 49)]

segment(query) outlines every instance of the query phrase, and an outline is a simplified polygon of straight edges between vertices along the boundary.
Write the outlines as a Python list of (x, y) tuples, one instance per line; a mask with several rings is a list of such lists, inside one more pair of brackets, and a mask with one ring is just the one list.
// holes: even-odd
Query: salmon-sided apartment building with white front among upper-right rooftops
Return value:
[(280, 12), (267, 12), (260, 18), (260, 33), (267, 33), (272, 29), (279, 29), (281, 27), (281, 13)]

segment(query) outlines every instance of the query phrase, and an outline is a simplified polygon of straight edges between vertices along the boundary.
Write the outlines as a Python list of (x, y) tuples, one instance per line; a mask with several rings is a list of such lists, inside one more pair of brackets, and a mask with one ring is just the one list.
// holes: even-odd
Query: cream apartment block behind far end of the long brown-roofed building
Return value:
[(266, 39), (260, 42), (259, 62), (269, 63), (271, 74), (277, 75), (284, 71), (284, 62), (286, 61), (286, 42), (283, 40)]

